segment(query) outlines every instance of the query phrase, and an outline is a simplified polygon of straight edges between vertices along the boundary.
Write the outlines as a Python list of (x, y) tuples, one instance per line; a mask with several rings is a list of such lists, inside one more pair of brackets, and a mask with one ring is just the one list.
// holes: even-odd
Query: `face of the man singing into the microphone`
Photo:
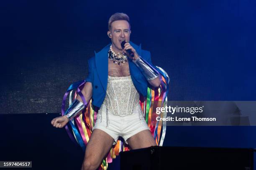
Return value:
[(121, 42), (129, 42), (130, 41), (130, 25), (125, 20), (117, 20), (111, 24), (111, 41), (113, 44), (113, 48), (116, 50), (122, 50)]

